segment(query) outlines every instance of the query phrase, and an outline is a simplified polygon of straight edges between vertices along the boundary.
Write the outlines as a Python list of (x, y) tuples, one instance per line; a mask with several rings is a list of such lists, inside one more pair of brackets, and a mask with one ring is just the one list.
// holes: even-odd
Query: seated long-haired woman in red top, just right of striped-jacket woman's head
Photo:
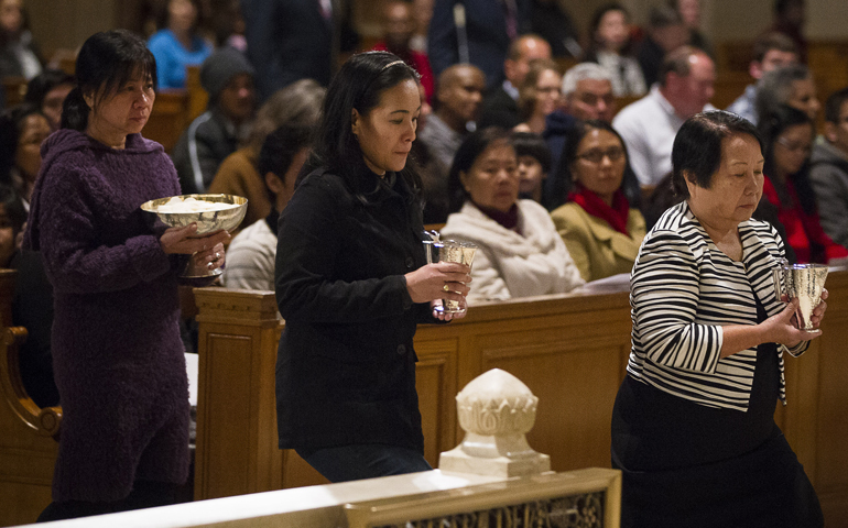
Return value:
[(825, 234), (818, 221), (809, 183), (813, 122), (801, 110), (780, 106), (759, 125), (765, 144), (761, 209), (769, 204), (776, 209), (785, 242), (795, 251), (797, 262), (830, 264), (848, 258), (848, 250)]

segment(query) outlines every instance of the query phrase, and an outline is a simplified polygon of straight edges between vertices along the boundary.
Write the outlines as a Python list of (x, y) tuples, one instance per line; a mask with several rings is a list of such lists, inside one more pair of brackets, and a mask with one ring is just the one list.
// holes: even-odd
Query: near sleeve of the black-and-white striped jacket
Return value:
[(689, 243), (673, 231), (645, 238), (633, 267), (633, 324), (643, 353), (654, 363), (698, 373), (715, 373), (720, 359), (720, 326), (695, 322), (698, 262)]

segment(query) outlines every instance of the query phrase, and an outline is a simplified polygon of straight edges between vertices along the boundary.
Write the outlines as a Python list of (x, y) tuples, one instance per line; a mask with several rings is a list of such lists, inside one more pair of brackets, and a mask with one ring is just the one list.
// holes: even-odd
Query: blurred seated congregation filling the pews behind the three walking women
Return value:
[[(699, 0), (656, 2), (639, 13), (644, 26), (611, 2), (588, 28), (567, 1), (385, 0), (379, 38), (354, 31), (350, 3), (151, 3), (143, 31), (159, 90), (186, 89), (186, 68), (197, 66), (208, 95), (168, 152), (182, 193), (249, 199), (228, 248), (227, 287), (273, 289), (278, 219), (325, 87), (351, 53), (388, 51), (421, 76), (410, 163), (424, 222), (480, 248), (470, 304), (629, 273), (646, 231), (682, 199), (668, 184), (677, 130), (715, 109), (715, 48)], [(0, 266), (39, 277), (41, 297), (30, 304), (50, 317), (43, 271), (19, 244), (40, 145), (62, 127), (75, 78), (45, 62), (25, 8), (0, 0), (0, 77), (26, 80), (23, 102), (6, 106), (0, 124)], [(793, 261), (835, 263), (848, 257), (848, 87), (819, 101), (804, 9), (774, 1), (773, 20), (750, 35), (750, 86), (728, 110), (754, 123), (765, 145), (754, 216), (778, 228)], [(48, 404), (55, 395), (45, 391)]]

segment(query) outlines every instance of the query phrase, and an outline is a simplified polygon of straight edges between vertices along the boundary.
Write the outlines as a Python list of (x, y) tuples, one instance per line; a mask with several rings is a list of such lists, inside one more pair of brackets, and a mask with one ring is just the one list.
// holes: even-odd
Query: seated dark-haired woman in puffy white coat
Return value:
[(509, 133), (483, 129), (456, 153), (448, 177), (452, 210), (443, 239), (477, 244), (468, 301), (569, 292), (584, 284), (545, 208), (519, 200)]

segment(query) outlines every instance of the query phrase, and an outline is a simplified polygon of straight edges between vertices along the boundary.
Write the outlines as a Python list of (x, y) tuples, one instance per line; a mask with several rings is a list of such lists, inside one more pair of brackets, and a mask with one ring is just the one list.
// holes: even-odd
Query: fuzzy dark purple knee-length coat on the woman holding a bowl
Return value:
[(64, 419), (53, 499), (118, 501), (135, 480), (183, 483), (188, 387), (176, 258), (139, 206), (180, 194), (162, 146), (113, 150), (59, 130), (42, 145), (25, 244), (53, 284)]

